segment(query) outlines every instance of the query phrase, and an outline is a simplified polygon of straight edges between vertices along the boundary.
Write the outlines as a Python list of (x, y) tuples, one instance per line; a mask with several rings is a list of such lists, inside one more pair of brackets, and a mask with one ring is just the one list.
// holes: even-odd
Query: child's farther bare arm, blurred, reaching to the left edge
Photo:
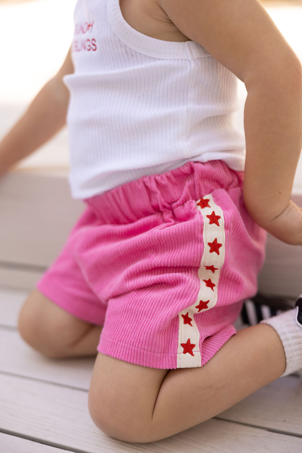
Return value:
[(72, 72), (74, 68), (69, 49), (57, 75), (38, 92), (24, 115), (0, 142), (0, 176), (65, 125), (69, 91), (62, 77)]

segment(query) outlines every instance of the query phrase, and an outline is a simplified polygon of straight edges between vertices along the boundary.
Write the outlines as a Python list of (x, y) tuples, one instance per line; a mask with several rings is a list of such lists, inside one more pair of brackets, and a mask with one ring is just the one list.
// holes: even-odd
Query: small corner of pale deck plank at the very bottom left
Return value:
[(2, 448), (1, 451), (5, 453), (72, 453), (70, 450), (50, 447), (43, 443), (4, 433), (0, 433), (0, 445)]

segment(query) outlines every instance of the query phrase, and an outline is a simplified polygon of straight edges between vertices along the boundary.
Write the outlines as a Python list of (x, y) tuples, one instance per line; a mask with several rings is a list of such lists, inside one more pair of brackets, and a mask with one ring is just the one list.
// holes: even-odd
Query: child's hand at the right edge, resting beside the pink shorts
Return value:
[(302, 208), (290, 201), (284, 211), (263, 228), (280, 241), (302, 246)]

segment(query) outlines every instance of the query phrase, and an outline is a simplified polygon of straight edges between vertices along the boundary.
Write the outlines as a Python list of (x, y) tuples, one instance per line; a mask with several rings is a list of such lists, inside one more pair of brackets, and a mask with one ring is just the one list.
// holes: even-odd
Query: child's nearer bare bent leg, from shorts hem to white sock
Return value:
[(220, 414), (283, 374), (283, 344), (269, 325), (240, 330), (204, 366), (160, 370), (99, 353), (89, 410), (106, 434), (164, 439)]

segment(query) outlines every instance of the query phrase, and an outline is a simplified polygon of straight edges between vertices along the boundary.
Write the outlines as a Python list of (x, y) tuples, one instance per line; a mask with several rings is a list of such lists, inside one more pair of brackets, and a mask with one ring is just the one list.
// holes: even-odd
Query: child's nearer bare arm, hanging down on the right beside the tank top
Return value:
[(302, 66), (258, 0), (158, 0), (180, 31), (244, 82), (244, 202), (254, 220), (302, 245), (290, 201), (302, 148)]

